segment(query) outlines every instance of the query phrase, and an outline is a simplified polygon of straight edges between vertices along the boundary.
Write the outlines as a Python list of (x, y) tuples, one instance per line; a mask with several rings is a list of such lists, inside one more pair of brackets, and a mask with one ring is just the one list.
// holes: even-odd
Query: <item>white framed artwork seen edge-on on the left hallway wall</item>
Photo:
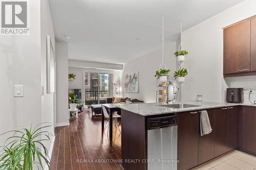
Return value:
[(53, 93), (55, 86), (55, 55), (51, 37), (47, 36), (47, 93)]

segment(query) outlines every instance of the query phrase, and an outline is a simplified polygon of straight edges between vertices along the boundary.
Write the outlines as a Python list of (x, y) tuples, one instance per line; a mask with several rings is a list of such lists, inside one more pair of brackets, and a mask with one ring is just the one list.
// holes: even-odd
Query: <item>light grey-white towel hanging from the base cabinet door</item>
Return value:
[(209, 133), (212, 132), (212, 129), (210, 126), (210, 120), (206, 110), (203, 110), (200, 114), (200, 130), (201, 130), (201, 136), (208, 135)]

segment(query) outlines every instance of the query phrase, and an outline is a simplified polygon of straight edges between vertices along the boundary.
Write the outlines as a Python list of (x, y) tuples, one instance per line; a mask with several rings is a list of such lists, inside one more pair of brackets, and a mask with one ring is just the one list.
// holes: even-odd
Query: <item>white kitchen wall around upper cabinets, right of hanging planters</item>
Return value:
[(188, 76), (182, 100), (196, 100), (197, 94), (202, 94), (204, 101), (224, 102), (225, 89), (234, 85), (233, 80), (240, 82), (239, 86), (252, 85), (256, 77), (224, 80), (222, 28), (255, 15), (255, 6), (254, 0), (244, 1), (183, 32)]

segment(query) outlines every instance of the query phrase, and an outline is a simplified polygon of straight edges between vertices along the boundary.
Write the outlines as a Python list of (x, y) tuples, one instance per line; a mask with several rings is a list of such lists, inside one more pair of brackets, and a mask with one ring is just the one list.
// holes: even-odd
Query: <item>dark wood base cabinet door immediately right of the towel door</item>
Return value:
[(215, 157), (227, 152), (228, 108), (216, 109), (215, 113)]

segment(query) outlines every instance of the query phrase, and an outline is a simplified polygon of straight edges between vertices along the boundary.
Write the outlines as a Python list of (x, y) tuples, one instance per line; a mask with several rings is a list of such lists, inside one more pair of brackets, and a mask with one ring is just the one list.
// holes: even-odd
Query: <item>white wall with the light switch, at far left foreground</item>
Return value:
[[(40, 1), (29, 4), (30, 35), (0, 38), (0, 134), (41, 123)], [(24, 85), (24, 97), (13, 97), (15, 84)]]

